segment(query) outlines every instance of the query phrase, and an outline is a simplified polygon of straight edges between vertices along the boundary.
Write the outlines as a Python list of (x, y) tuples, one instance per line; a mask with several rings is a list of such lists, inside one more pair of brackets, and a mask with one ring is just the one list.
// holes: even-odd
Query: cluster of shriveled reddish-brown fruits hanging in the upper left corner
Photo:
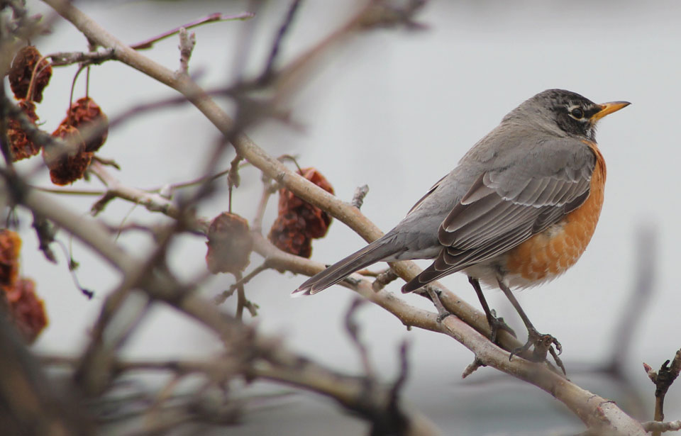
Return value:
[[(38, 116), (33, 101), (43, 100), (43, 89), (51, 76), (50, 62), (43, 59), (35, 47), (23, 47), (17, 52), (9, 82), (14, 96), (20, 100), (18, 106), (34, 125)], [(27, 96), (29, 91), (31, 96)], [(50, 169), (52, 183), (65, 185), (82, 178), (92, 155), (106, 141), (108, 132), (109, 121), (92, 99), (83, 97), (72, 104), (66, 118), (52, 133), (53, 137), (65, 140), (70, 145), (68, 150), (43, 148), (43, 160)], [(18, 119), (9, 120), (8, 134), (12, 160), (25, 159), (40, 152), (41, 145), (31, 141)], [(83, 134), (87, 135), (87, 141), (83, 140)]]

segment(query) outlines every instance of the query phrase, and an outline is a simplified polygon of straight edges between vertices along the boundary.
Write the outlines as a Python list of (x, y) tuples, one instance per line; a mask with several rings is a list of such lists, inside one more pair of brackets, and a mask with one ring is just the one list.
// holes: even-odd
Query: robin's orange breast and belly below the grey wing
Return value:
[(601, 214), (606, 176), (601, 152), (593, 143), (589, 142), (589, 147), (596, 154), (589, 198), (560, 222), (509, 251), (506, 271), (510, 274), (527, 281), (553, 279), (572, 267), (586, 250)]

